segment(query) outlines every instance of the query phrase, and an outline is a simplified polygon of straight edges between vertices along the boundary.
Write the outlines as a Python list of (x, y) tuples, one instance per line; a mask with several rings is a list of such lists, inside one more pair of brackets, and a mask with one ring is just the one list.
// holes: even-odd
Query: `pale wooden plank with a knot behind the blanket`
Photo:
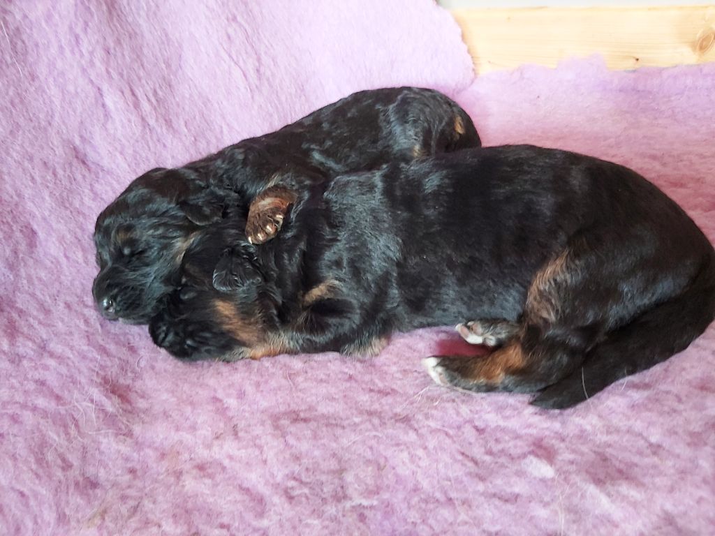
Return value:
[(610, 69), (715, 61), (715, 5), (454, 9), (478, 73), (602, 54)]

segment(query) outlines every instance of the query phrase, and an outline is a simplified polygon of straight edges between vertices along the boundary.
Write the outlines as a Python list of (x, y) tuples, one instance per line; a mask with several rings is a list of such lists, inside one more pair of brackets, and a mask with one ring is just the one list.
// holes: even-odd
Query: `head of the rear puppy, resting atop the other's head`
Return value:
[(201, 228), (222, 217), (223, 199), (192, 170), (152, 169), (99, 214), (99, 274), (92, 294), (107, 319), (149, 322), (176, 287), (184, 252)]

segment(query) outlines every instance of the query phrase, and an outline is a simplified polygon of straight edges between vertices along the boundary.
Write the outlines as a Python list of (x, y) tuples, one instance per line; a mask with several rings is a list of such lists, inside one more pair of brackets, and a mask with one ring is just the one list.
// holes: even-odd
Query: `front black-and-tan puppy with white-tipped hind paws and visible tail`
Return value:
[(425, 359), (436, 382), (556, 408), (681, 351), (715, 316), (715, 252), (694, 222), (630, 169), (579, 154), (469, 149), (337, 177), (260, 246), (237, 231), (246, 217), (188, 247), (149, 327), (175, 356), (374, 354), (395, 331), (462, 322), (493, 351)]

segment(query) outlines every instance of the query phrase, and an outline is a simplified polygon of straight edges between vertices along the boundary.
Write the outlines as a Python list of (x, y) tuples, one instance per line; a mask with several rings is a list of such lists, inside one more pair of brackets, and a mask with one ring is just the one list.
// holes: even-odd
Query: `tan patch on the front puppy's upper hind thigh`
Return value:
[(569, 272), (568, 254), (568, 249), (564, 250), (536, 273), (526, 294), (525, 312), (529, 319), (556, 322), (560, 302), (559, 287), (573, 275)]

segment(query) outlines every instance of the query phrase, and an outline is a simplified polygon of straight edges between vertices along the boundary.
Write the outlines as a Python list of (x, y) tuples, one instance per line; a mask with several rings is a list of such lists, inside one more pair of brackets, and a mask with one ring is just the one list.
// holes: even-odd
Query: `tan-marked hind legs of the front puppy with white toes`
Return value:
[[(600, 337), (598, 322), (590, 325), (570, 297), (583, 277), (579, 252), (566, 249), (548, 262), (528, 289), (521, 325), (478, 322), (461, 329), (466, 339), (506, 342), (486, 357), (430, 357), (425, 366), (435, 382), (470, 391), (534, 392), (553, 384), (583, 362)], [(509, 338), (511, 336), (511, 338)]]

